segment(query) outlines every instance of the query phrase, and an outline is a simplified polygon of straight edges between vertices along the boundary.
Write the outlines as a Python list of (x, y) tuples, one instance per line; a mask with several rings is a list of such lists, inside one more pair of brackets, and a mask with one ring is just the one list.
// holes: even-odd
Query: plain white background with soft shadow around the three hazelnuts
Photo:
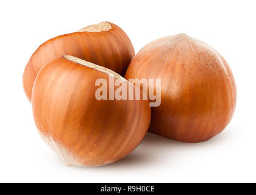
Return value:
[[(1, 1), (0, 182), (256, 182), (255, 9), (255, 1)], [(197, 144), (148, 133), (111, 165), (63, 165), (37, 133), (23, 70), (44, 41), (101, 21), (123, 28), (136, 52), (179, 33), (215, 48), (238, 91), (229, 126)]]

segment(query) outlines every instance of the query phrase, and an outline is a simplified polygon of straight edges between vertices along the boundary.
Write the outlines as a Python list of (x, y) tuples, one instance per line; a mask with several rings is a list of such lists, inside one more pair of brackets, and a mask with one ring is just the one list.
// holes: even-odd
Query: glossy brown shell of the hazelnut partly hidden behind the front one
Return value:
[(124, 76), (135, 55), (129, 37), (113, 23), (111, 29), (101, 32), (74, 32), (52, 38), (34, 52), (23, 74), (23, 87), (31, 101), (35, 77), (49, 60), (60, 55), (73, 55), (97, 65), (105, 66)]

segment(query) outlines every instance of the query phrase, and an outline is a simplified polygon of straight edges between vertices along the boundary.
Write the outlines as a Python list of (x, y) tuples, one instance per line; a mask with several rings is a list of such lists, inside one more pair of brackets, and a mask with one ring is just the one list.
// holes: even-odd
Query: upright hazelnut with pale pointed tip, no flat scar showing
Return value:
[(196, 143), (220, 133), (235, 111), (236, 87), (227, 62), (185, 34), (160, 38), (138, 52), (125, 78), (162, 79), (161, 105), (149, 132)]

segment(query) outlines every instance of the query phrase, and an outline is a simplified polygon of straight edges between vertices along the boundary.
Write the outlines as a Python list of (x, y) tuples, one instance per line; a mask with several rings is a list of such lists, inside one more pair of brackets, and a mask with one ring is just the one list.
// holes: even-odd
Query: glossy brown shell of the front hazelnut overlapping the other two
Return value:
[[(108, 74), (62, 56), (43, 66), (35, 80), (35, 123), (66, 165), (112, 163), (132, 152), (148, 131), (149, 101), (99, 101), (95, 98), (99, 87), (94, 85), (99, 78), (108, 80)], [(125, 79), (124, 83), (131, 85)]]

